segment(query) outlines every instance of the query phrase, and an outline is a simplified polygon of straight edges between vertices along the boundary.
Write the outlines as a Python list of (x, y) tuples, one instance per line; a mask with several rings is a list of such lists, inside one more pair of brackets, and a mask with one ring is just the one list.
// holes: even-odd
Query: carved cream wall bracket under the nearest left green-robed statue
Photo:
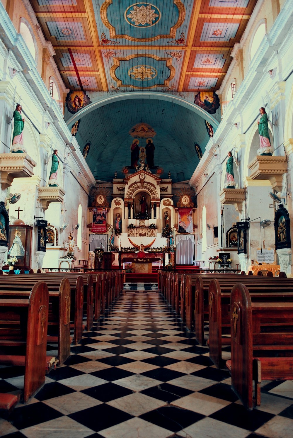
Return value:
[(27, 154), (0, 154), (2, 190), (10, 187), (14, 178), (32, 177), (36, 162)]

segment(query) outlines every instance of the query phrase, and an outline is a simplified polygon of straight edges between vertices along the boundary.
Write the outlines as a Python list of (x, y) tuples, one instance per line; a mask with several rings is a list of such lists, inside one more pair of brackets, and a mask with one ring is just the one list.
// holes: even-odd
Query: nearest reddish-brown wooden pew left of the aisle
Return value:
[[(44, 282), (33, 286), (27, 300), (0, 299), (0, 364), (25, 366), (24, 403), (45, 383), (48, 311), (49, 293)], [(11, 346), (18, 354), (5, 354)], [(19, 354), (21, 347), (25, 354)]]

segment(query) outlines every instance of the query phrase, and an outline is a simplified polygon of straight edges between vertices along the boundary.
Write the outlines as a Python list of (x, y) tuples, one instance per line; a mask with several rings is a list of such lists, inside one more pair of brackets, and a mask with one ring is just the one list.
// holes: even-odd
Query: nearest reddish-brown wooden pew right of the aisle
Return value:
[(232, 389), (248, 410), (260, 406), (262, 380), (293, 380), (293, 304), (251, 303), (246, 286), (230, 296)]

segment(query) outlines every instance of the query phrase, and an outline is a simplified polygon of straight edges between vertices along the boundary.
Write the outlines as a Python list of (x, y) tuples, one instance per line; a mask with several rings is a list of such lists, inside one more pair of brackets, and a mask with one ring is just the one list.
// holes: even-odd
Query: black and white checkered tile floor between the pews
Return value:
[[(194, 334), (155, 292), (124, 292), (71, 357), (10, 421), (9, 437), (290, 437), (293, 381), (263, 382), (247, 412)], [(52, 351), (54, 346), (52, 346)], [(0, 368), (0, 392), (21, 388), (23, 370)]]

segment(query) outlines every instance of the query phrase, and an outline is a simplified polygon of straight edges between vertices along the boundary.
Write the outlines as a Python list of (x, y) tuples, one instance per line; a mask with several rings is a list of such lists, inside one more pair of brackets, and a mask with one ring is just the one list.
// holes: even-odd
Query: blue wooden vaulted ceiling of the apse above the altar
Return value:
[[(111, 181), (115, 171), (118, 178), (123, 177), (121, 169), (131, 163), (134, 138), (129, 131), (138, 123), (149, 124), (156, 132), (152, 138), (154, 162), (164, 169), (162, 178), (170, 171), (173, 182), (189, 180), (199, 162), (194, 143), (204, 153), (209, 140), (205, 121), (184, 106), (154, 99), (120, 100), (81, 118), (76, 139), (81, 152), (86, 143), (91, 143), (86, 162), (94, 177)], [(145, 138), (139, 141), (139, 146), (145, 146)]]

